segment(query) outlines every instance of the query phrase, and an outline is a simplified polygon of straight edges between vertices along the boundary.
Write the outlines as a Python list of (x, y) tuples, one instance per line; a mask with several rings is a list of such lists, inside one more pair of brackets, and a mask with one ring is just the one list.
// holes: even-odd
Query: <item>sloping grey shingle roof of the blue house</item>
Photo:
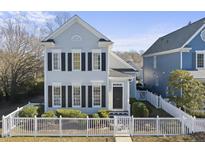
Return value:
[(144, 54), (154, 54), (163, 51), (183, 48), (190, 38), (192, 38), (199, 29), (203, 28), (205, 18), (202, 18), (192, 24), (182, 27), (172, 33), (160, 37)]

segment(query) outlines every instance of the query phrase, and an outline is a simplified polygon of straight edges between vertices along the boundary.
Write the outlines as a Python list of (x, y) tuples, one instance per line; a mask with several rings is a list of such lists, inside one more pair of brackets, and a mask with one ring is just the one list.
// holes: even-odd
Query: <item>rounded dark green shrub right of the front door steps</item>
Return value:
[(134, 117), (148, 117), (149, 110), (144, 103), (135, 102), (132, 104), (132, 114)]

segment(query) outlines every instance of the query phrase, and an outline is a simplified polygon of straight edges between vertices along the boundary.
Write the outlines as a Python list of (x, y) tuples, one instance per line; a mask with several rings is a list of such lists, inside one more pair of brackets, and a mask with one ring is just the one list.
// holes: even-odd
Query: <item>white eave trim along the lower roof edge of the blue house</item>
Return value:
[(189, 52), (190, 50), (191, 48), (176, 48), (173, 50), (167, 50), (167, 51), (144, 55), (143, 57), (160, 56), (160, 55), (166, 55), (166, 54), (171, 54), (171, 53), (176, 53), (176, 52)]

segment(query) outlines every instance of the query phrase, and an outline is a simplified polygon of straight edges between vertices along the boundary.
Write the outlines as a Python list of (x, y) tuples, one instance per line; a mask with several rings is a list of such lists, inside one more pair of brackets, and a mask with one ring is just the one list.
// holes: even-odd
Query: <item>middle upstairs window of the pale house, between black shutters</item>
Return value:
[(81, 51), (79, 49), (72, 50), (72, 61), (73, 61), (73, 70), (80, 71), (81, 70)]

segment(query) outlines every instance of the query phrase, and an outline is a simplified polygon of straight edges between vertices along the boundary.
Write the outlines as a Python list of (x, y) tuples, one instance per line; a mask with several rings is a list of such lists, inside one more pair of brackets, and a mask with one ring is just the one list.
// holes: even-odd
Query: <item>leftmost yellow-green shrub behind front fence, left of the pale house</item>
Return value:
[(34, 117), (38, 115), (38, 107), (26, 106), (19, 112), (19, 117)]

